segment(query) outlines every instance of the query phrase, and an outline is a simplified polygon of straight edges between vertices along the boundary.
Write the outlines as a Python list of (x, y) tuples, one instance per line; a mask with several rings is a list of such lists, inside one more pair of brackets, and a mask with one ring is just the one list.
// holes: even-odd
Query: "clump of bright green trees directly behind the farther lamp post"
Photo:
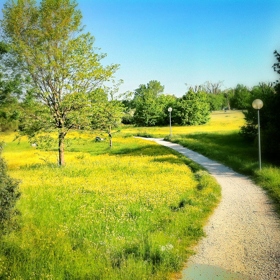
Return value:
[[(158, 82), (158, 84), (160, 83)], [(169, 123), (167, 110), (169, 107), (173, 109), (171, 113), (172, 123), (198, 125), (205, 124), (209, 120), (210, 109), (204, 92), (194, 93), (189, 90), (182, 98), (177, 98), (174, 95), (157, 95), (154, 92), (149, 84), (147, 86), (140, 85), (135, 91), (135, 96), (129, 103), (130, 108), (135, 109), (133, 124), (137, 126), (166, 125)], [(125, 103), (128, 102), (125, 101)]]

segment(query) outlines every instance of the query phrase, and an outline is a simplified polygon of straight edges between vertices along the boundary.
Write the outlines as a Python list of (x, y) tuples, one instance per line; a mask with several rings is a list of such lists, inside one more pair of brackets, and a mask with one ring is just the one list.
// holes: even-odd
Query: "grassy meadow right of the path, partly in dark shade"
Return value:
[(258, 143), (248, 142), (238, 135), (244, 123), (241, 111), (227, 111), (212, 113), (211, 120), (205, 125), (172, 127), (171, 137), (169, 126), (129, 127), (123, 131), (138, 136), (165, 138), (221, 162), (241, 174), (252, 176), (257, 184), (268, 191), (280, 214), (280, 168), (262, 160), (262, 170), (259, 170)]

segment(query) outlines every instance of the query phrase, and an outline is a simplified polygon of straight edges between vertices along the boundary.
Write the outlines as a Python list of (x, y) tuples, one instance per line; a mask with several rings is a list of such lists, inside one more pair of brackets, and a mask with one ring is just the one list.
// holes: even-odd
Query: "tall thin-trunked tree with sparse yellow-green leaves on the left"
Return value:
[(64, 139), (72, 129), (90, 129), (92, 107), (107, 97), (102, 90), (119, 65), (100, 63), (94, 37), (82, 34), (81, 11), (71, 0), (13, 0), (4, 5), (3, 39), (11, 47), (6, 67), (30, 77), (29, 97), (36, 106), (23, 108), (22, 134), (58, 132), (59, 164)]

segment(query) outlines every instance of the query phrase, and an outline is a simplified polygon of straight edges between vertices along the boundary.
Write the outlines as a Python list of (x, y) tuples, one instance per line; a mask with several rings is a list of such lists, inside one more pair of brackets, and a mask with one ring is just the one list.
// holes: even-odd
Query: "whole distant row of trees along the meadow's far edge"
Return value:
[(182, 97), (164, 95), (164, 86), (152, 80), (147, 85), (141, 84), (133, 99), (123, 100), (125, 114), (123, 124), (153, 126), (169, 124), (168, 108), (172, 108), (173, 124), (198, 125), (209, 120), (211, 111), (248, 110), (258, 96), (275, 92), (273, 83), (260, 82), (249, 89), (238, 84), (235, 88), (221, 90), (222, 82), (205, 82), (202, 85), (189, 86)]

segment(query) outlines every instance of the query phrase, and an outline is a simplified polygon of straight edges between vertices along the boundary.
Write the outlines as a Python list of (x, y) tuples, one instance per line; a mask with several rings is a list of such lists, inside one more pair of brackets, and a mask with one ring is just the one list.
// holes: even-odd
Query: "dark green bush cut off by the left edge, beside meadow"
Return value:
[(19, 212), (14, 208), (20, 197), (18, 181), (7, 174), (7, 165), (0, 152), (0, 232), (11, 225), (11, 218)]

